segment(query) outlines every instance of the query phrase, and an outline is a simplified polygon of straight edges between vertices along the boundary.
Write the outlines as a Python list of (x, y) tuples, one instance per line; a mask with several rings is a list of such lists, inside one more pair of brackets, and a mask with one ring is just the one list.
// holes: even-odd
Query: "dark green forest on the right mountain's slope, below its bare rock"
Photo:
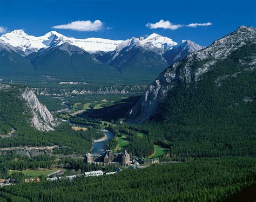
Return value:
[[(255, 53), (255, 44), (244, 46), (189, 85), (177, 81), (158, 113), (133, 127), (170, 148), (173, 159), (256, 156), (256, 71), (240, 62), (244, 55), (252, 62)], [(192, 69), (203, 65), (195, 62)]]

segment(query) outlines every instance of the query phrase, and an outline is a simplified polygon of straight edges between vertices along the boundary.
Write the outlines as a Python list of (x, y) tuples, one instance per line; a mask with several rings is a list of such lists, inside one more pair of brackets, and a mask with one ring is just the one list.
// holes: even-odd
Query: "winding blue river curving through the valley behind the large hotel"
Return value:
[[(75, 125), (78, 127), (85, 127), (85, 128), (89, 128), (89, 126), (84, 125), (84, 124), (76, 124), (76, 123), (71, 123), (70, 121), (64, 120), (62, 119), (62, 121), (64, 122), (68, 122), (71, 125)], [(100, 138), (99, 140), (95, 140), (92, 143), (92, 154), (103, 154), (104, 153), (104, 146), (105, 146), (105, 142), (107, 140), (110, 140), (111, 138), (114, 137), (114, 134), (106, 129), (96, 129), (99, 131), (102, 131), (105, 134), (105, 138)]]

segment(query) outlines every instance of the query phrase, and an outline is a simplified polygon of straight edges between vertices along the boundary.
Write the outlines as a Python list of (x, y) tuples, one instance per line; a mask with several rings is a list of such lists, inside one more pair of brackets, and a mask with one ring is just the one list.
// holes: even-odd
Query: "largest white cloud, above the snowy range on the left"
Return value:
[(52, 28), (54, 29), (64, 29), (64, 30), (75, 30), (79, 32), (91, 32), (91, 31), (99, 31), (104, 27), (103, 23), (100, 20), (95, 20), (95, 22), (91, 22), (91, 20), (82, 20), (75, 21), (69, 24), (56, 25)]

